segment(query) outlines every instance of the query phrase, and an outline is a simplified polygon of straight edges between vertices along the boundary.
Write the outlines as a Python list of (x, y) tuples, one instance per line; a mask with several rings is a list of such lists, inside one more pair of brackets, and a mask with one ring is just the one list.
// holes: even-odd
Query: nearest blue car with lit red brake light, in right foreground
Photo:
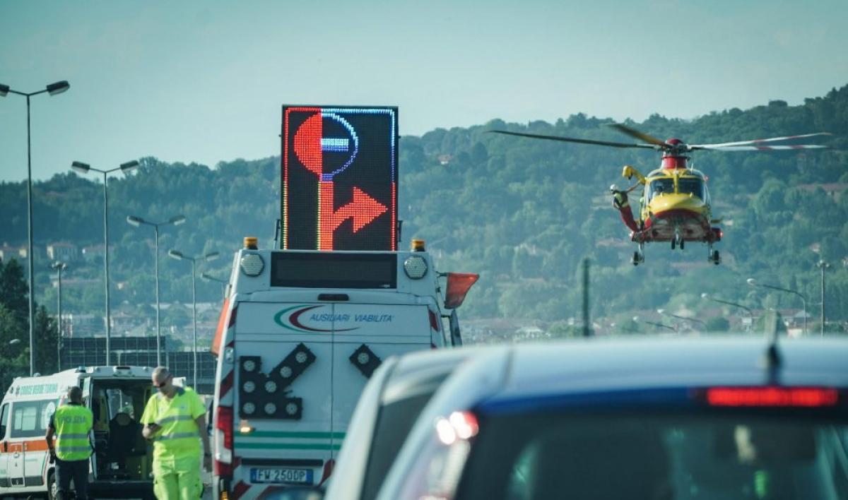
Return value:
[(848, 339), (473, 352), (380, 500), (848, 498)]

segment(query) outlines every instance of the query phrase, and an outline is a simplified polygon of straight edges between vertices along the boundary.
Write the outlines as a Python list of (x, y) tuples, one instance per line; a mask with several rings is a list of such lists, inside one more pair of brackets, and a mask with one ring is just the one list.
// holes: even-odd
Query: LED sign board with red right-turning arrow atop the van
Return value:
[(282, 242), (396, 250), (398, 108), (283, 106)]

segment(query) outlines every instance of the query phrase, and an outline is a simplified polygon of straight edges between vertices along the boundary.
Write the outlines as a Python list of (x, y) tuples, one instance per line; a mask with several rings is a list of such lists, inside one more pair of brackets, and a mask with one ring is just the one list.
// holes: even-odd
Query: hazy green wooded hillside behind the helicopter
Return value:
[[(567, 112), (568, 110), (564, 110)], [(590, 111), (590, 110), (587, 110)], [(496, 114), (496, 112), (493, 112)], [(750, 308), (800, 307), (796, 297), (765, 293), (745, 284), (763, 283), (804, 293), (817, 318), (820, 300), (815, 263), (828, 270), (828, 319), (848, 320), (848, 86), (803, 105), (782, 101), (748, 110), (729, 109), (697, 119), (654, 115), (628, 122), (653, 136), (689, 143), (729, 142), (829, 131), (834, 149), (809, 152), (695, 155), (693, 165), (709, 175), (714, 213), (724, 219), (718, 249), (724, 262), (706, 262), (706, 245), (684, 252), (649, 245), (646, 262), (629, 264), (633, 245), (607, 188), (623, 164), (646, 173), (656, 153), (488, 134), (490, 129), (622, 142), (628, 138), (605, 124), (611, 119), (572, 114), (554, 124), (508, 124), (494, 119), (470, 128), (438, 129), (400, 142), (399, 217), (403, 245), (427, 240), (440, 270), (482, 277), (463, 306), (464, 318), (530, 318), (563, 321), (580, 311), (579, 266), (592, 263), (592, 314), (618, 324), (641, 310), (702, 308), (708, 292)], [(153, 231), (126, 224), (127, 215), (187, 223), (164, 228), (163, 302), (191, 300), (190, 266), (165, 258), (170, 248), (198, 255), (236, 249), (243, 236), (271, 244), (279, 216), (279, 158), (221, 163), (166, 164), (142, 158), (127, 178), (109, 181), (109, 227), (114, 243), (111, 278), (114, 305), (153, 303)], [(70, 161), (69, 161), (70, 164)], [(72, 242), (102, 245), (102, 186), (70, 172), (36, 182), (36, 247)], [(25, 245), (25, 184), (0, 183), (0, 244)], [(36, 254), (36, 298), (53, 304), (47, 257)], [(203, 264), (226, 277), (231, 260)], [(102, 261), (74, 264), (66, 275), (65, 307), (102, 314)], [(90, 282), (86, 283), (86, 280)], [(120, 283), (120, 289), (118, 284)], [(198, 283), (199, 300), (216, 301), (215, 283)], [(153, 314), (141, 308), (138, 314)], [(173, 319), (176, 321), (177, 319)], [(839, 325), (834, 325), (838, 328)], [(622, 328), (624, 328), (622, 326)]]

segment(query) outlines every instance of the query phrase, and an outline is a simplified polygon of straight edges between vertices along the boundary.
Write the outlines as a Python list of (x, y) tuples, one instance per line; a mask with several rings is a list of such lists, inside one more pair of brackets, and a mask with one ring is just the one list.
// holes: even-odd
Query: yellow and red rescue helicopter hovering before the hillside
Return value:
[[(816, 132), (801, 136), (770, 137), (752, 141), (722, 142), (717, 144), (687, 144), (680, 139), (661, 141), (622, 124), (609, 124), (628, 136), (639, 139), (639, 143), (594, 141), (563, 136), (544, 136), (512, 131), (490, 131), (508, 136), (529, 137), (550, 141), (577, 142), (607, 147), (637, 147), (655, 149), (662, 153), (659, 168), (648, 175), (625, 165), (622, 176), (628, 180), (636, 178), (636, 183), (625, 190), (615, 184), (610, 186), (613, 206), (622, 216), (622, 222), (630, 230), (630, 240), (638, 245), (633, 252), (632, 263), (644, 262), (644, 245), (649, 242), (671, 242), (672, 250), (683, 250), (686, 242), (704, 242), (707, 245), (707, 260), (718, 265), (722, 259), (713, 245), (722, 239), (722, 230), (716, 225), (721, 222), (712, 218), (710, 192), (706, 188), (706, 175), (700, 170), (690, 168), (687, 163), (689, 153), (699, 150), (713, 151), (780, 151), (797, 149), (820, 149), (827, 146), (819, 144), (773, 145), (782, 142), (814, 136), (829, 136), (828, 132)], [(633, 219), (628, 202), (628, 193), (643, 186), (639, 201), (639, 220)]]

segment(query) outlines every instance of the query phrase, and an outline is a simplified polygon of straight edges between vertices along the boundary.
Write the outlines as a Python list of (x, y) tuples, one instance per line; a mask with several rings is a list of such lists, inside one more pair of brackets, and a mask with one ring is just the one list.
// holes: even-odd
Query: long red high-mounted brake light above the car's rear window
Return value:
[(839, 391), (823, 387), (710, 387), (706, 403), (711, 406), (835, 406)]

